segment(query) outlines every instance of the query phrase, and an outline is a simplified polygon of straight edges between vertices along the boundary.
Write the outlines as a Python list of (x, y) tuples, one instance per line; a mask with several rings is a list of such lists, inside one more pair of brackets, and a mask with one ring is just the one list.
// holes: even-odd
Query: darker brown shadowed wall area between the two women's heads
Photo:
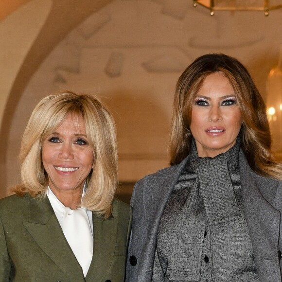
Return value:
[(107, 98), (101, 94), (117, 125), (120, 181), (135, 182), (168, 165), (173, 93), (165, 97), (146, 90), (115, 90)]

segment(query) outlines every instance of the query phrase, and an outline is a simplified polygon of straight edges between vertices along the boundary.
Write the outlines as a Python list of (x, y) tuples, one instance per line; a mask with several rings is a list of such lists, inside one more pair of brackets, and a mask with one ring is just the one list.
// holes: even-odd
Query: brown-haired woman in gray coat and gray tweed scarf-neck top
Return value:
[(127, 282), (281, 282), (282, 166), (263, 99), (224, 54), (180, 76), (171, 167), (135, 186)]

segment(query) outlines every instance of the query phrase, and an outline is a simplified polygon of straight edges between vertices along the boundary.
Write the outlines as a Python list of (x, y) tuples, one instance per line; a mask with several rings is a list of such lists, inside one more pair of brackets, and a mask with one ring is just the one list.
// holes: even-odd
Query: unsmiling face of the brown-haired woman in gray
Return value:
[(192, 107), (191, 133), (199, 157), (215, 157), (231, 148), (237, 139), (242, 116), (234, 89), (222, 72), (208, 75)]

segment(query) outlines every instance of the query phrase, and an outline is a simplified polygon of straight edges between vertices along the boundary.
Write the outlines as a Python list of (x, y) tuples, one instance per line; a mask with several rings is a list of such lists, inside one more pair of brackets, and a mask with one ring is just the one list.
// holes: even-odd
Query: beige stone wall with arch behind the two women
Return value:
[[(0, 54), (5, 50), (1, 60), (13, 69), (0, 84), (5, 138), (0, 196), (18, 181), (21, 134), (33, 107), (53, 91), (98, 95), (110, 107), (118, 128), (120, 180), (134, 182), (168, 165), (176, 80), (197, 56), (216, 52), (237, 57), (264, 98), (267, 74), (278, 63), (282, 10), (270, 11), (268, 17), (260, 12), (211, 17), (203, 7), (194, 8), (192, 0), (80, 1), (80, 7), (71, 0), (48, 2), (39, 5), (45, 21), (27, 16), (35, 9), (39, 13), (40, 0), (33, 0), (16, 10), (17, 18), (11, 14), (0, 22), (7, 38), (23, 41), (19, 46), (11, 42), (11, 50), (9, 44), (0, 45)], [(27, 24), (19, 26), (23, 19)], [(7, 25), (8, 20), (14, 25)], [(28, 31), (30, 37), (19, 37)]]

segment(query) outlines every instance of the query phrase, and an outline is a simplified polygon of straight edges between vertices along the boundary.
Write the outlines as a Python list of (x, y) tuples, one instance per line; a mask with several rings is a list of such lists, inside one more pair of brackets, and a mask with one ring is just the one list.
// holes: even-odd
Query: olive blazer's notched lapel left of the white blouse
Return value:
[(82, 268), (65, 239), (48, 198), (30, 199), (29, 206), (29, 222), (23, 222), (23, 225), (35, 242), (69, 277), (70, 281), (85, 281)]

